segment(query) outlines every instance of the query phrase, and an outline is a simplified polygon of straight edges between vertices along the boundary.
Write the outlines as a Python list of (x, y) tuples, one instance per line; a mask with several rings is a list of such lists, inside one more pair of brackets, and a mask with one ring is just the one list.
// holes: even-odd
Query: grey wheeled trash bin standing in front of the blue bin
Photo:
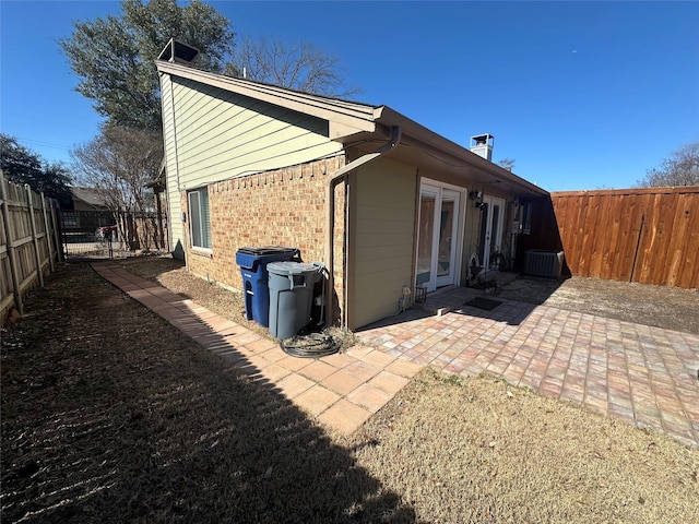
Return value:
[(313, 288), (322, 277), (323, 265), (273, 262), (270, 275), (270, 334), (286, 340), (296, 336), (311, 320)]

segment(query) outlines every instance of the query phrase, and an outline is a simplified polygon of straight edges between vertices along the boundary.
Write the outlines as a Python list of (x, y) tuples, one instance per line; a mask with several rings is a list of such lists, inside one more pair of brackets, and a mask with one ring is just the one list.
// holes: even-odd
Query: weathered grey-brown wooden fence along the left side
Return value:
[(0, 325), (12, 308), (62, 261), (58, 204), (28, 186), (7, 182), (0, 170)]

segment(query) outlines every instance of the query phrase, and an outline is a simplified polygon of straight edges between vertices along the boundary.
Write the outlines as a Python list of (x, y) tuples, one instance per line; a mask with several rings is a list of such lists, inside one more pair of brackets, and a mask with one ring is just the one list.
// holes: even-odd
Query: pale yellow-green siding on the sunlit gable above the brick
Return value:
[(325, 120), (190, 80), (166, 75), (162, 86), (173, 246), (185, 243), (180, 191), (342, 148)]

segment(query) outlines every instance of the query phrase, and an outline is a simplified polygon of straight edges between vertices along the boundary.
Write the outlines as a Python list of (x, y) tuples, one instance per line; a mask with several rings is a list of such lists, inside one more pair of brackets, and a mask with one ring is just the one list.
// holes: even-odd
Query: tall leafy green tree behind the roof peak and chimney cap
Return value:
[(197, 47), (198, 66), (223, 71), (233, 51), (230, 23), (211, 5), (192, 0), (122, 0), (123, 14), (73, 22), (74, 32), (59, 40), (73, 72), (76, 91), (94, 102), (110, 124), (161, 129), (159, 81), (155, 59), (175, 37)]

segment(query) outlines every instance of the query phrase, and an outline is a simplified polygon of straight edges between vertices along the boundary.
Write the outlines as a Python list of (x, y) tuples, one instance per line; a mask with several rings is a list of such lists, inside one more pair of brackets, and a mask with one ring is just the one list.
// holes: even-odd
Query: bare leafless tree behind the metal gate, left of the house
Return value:
[(156, 178), (163, 158), (161, 134), (104, 124), (100, 134), (73, 148), (71, 157), (76, 180), (98, 189), (109, 210), (119, 217), (121, 237), (130, 249), (140, 249), (142, 243), (147, 249), (150, 240), (157, 239), (157, 231), (144, 219), (146, 230), (140, 235), (133, 215), (145, 218), (155, 206), (153, 190), (146, 186)]

